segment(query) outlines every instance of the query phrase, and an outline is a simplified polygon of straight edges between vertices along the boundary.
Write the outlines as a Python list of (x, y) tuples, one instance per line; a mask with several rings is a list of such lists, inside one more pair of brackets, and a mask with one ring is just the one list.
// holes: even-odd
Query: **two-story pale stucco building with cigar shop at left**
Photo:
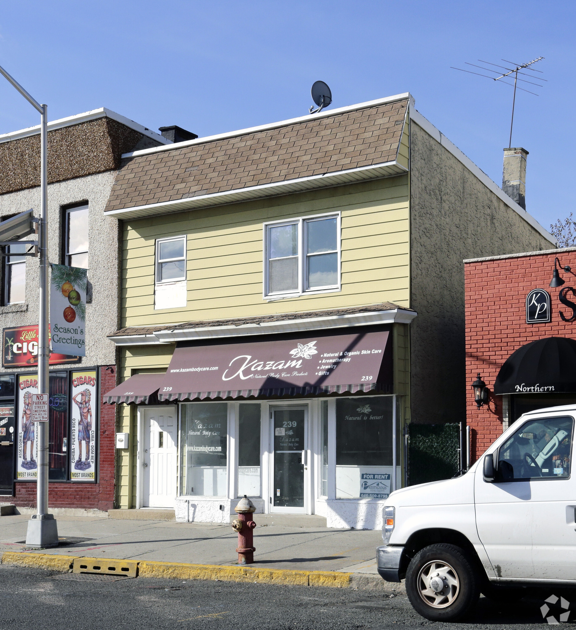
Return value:
[[(121, 154), (169, 142), (106, 108), (48, 123), (49, 260), (88, 269), (86, 354), (50, 354), (51, 510), (114, 505), (116, 414), (102, 400), (116, 386), (116, 348), (106, 333), (119, 321), (118, 222), (104, 219), (103, 211)], [(29, 209), (38, 217), (39, 126), (0, 135), (0, 173), (0, 221)], [(21, 509), (36, 505), (38, 471), (28, 402), (38, 391), (39, 270), (38, 258), (22, 255), (29, 250), (6, 247), (0, 282), (0, 501)]]

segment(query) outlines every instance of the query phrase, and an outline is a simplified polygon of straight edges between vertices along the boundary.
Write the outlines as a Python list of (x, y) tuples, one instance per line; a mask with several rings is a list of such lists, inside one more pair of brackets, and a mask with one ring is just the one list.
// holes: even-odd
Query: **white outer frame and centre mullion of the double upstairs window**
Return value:
[[(322, 219), (330, 219), (334, 217), (336, 219), (336, 253), (337, 253), (337, 277), (338, 282), (334, 285), (327, 285), (325, 287), (312, 287), (307, 286), (308, 277), (308, 254), (307, 254), (307, 230), (305, 224), (308, 221), (320, 221)], [(269, 233), (271, 227), (278, 226), (298, 226), (298, 289), (291, 291), (283, 291), (278, 293), (269, 292)], [(263, 286), (263, 298), (265, 300), (281, 300), (290, 297), (300, 297), (300, 295), (314, 295), (319, 293), (332, 293), (342, 290), (342, 261), (341, 261), (341, 213), (340, 212), (326, 212), (325, 214), (313, 214), (306, 217), (297, 217), (295, 219), (284, 219), (283, 221), (271, 221), (263, 224), (263, 240), (264, 240), (264, 286)], [(329, 253), (329, 252), (322, 252)]]

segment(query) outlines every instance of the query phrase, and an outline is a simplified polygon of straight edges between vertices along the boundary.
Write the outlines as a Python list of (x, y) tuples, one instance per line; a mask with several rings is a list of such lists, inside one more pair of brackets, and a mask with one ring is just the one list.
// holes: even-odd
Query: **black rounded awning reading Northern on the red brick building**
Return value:
[(495, 394), (576, 392), (576, 341), (546, 337), (518, 348), (494, 383)]

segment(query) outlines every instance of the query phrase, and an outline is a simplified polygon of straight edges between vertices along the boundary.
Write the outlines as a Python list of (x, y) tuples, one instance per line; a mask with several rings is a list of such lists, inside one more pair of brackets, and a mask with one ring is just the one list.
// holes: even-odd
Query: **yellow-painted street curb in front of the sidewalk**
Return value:
[[(75, 559), (84, 557), (86, 556), (4, 551), (2, 554), (2, 564), (6, 564), (6, 566), (20, 566), (67, 573), (72, 570)], [(89, 559), (94, 560), (95, 558)], [(106, 561), (121, 562), (121, 560), (117, 559), (98, 558), (99, 564), (105, 563)], [(151, 560), (141, 560), (138, 561), (137, 564), (137, 575), (140, 578), (257, 582), (259, 584), (272, 584), (277, 586), (357, 588), (359, 590), (380, 590), (382, 592), (396, 594), (405, 592), (404, 584), (392, 584), (382, 580), (379, 575), (365, 573), (252, 569), (245, 566), (186, 564)]]

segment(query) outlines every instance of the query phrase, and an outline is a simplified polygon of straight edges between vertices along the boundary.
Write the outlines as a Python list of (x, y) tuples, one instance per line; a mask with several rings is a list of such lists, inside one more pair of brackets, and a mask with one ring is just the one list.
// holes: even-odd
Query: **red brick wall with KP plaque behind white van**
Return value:
[[(560, 319), (560, 311), (568, 318), (572, 311), (558, 300), (563, 287), (576, 288), (576, 275), (560, 271), (566, 284), (548, 286), (556, 255), (562, 266), (576, 269), (576, 251), (465, 264), (466, 421), (472, 427), (472, 462), (502, 434), (502, 396), (490, 396), (488, 406), (480, 409), (474, 402), (470, 385), (478, 372), (492, 391), (500, 367), (514, 350), (545, 337), (576, 338), (576, 321)], [(550, 323), (526, 323), (526, 295), (532, 289), (550, 294)]]

